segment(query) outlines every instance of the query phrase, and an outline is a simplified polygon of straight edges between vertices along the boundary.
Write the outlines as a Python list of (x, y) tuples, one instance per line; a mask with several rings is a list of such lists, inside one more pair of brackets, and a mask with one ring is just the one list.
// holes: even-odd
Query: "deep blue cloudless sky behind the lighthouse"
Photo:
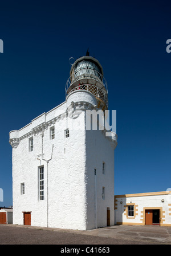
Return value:
[(65, 100), (70, 57), (97, 58), (117, 112), (115, 194), (171, 187), (169, 1), (3, 1), (0, 188), (12, 202), (9, 132)]

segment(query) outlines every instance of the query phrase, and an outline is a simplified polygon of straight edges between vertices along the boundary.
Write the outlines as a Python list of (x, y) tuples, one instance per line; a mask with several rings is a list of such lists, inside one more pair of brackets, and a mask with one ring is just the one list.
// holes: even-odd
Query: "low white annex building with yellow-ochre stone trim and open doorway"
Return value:
[(169, 191), (115, 196), (115, 224), (171, 226), (170, 199)]

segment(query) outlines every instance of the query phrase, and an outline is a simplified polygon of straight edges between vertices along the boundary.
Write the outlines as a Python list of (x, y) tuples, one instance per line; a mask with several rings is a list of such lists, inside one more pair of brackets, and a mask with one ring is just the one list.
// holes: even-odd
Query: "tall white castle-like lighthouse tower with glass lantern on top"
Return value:
[[(103, 69), (78, 58), (66, 101), (10, 132), (14, 224), (88, 230), (114, 225), (117, 136), (87, 129), (87, 111), (108, 109)], [(97, 119), (98, 123), (98, 119)]]

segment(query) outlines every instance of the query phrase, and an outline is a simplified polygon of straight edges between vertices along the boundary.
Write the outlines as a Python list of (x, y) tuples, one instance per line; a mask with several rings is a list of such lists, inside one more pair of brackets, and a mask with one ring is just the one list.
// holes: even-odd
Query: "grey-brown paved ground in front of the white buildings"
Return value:
[(171, 227), (116, 225), (67, 230), (0, 225), (0, 245), (171, 245)]

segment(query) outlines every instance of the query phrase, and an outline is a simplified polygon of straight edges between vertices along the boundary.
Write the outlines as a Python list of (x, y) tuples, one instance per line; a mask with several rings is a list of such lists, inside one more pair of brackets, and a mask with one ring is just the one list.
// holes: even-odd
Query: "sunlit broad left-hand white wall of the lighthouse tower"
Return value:
[[(54, 118), (54, 115), (58, 116), (58, 112), (54, 109), (47, 113), (46, 120), (48, 115)], [(35, 121), (36, 124), (41, 124), (39, 119), (33, 120), (30, 124), (32, 128)], [(23, 225), (23, 212), (31, 211), (32, 226), (86, 229), (84, 122), (84, 115), (75, 120), (60, 118), (43, 132), (23, 138), (18, 147), (13, 148), (14, 224)], [(53, 126), (55, 139), (51, 140), (50, 128)], [(72, 126), (76, 129), (71, 129)], [(66, 128), (70, 129), (70, 136), (67, 138), (64, 136)], [(23, 129), (25, 132), (29, 131), (28, 126)], [(19, 131), (19, 137), (20, 132), (25, 133), (23, 129)], [(11, 137), (12, 135), (13, 132)], [(29, 152), (29, 137), (33, 137), (32, 152)], [(39, 166), (44, 166), (44, 200), (39, 200)], [(23, 182), (25, 195), (21, 195)]]

